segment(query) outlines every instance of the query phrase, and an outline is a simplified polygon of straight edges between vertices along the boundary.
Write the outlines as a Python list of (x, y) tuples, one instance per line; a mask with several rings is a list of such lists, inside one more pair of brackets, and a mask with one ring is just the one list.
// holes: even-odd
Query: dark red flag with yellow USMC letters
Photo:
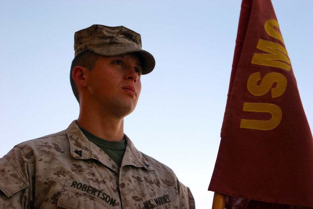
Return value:
[(313, 139), (270, 0), (243, 0), (209, 190), (313, 207)]

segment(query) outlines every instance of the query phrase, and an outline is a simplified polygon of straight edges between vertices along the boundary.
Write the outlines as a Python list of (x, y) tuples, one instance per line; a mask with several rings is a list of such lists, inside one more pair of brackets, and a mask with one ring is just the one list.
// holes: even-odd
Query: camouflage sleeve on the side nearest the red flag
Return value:
[(191, 194), (190, 189), (183, 185), (181, 182), (177, 182), (179, 192), (179, 208), (180, 209), (195, 209), (195, 201)]

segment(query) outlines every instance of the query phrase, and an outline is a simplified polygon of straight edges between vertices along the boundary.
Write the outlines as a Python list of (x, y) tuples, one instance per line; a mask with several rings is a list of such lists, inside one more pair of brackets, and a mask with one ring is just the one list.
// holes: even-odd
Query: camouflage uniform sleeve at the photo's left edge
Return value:
[(0, 158), (0, 209), (31, 208), (32, 172), (24, 151), (15, 146)]

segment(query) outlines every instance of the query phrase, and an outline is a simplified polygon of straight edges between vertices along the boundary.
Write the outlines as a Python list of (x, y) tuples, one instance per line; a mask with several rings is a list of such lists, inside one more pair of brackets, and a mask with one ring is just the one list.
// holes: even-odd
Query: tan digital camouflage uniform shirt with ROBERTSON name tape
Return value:
[(194, 208), (192, 194), (166, 165), (125, 135), (121, 168), (76, 122), (16, 145), (0, 159), (0, 208)]

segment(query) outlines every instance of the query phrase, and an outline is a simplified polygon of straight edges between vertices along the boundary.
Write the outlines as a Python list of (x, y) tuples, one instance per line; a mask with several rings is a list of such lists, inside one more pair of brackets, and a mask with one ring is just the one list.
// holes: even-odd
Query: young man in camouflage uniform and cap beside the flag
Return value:
[(194, 208), (189, 188), (123, 132), (155, 66), (140, 35), (92, 25), (75, 33), (74, 50), (78, 120), (0, 159), (0, 208)]

